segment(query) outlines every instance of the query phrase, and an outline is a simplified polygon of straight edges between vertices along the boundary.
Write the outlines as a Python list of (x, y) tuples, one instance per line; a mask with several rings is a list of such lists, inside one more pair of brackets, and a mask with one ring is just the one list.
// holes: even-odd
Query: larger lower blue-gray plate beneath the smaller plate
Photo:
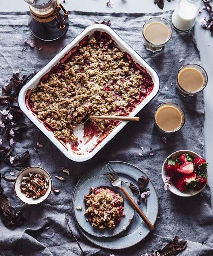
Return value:
[[(137, 184), (137, 179), (140, 176), (147, 177), (147, 175), (143, 171), (141, 171), (139, 168), (129, 163), (124, 163), (124, 162), (109, 162), (109, 163), (113, 167), (113, 169), (116, 170), (116, 172), (119, 174), (122, 181), (128, 180), (129, 182), (131, 181), (134, 184)], [(81, 179), (77, 183), (76, 188), (73, 192), (72, 209), (74, 209), (73, 203), (74, 203), (74, 198), (76, 197), (77, 188), (80, 187), (87, 179), (90, 179), (90, 177), (93, 177), (96, 175), (102, 175), (101, 168), (104, 165), (106, 165), (106, 163), (101, 163), (93, 167), (91, 170), (89, 170), (87, 173), (85, 173), (81, 177)], [(129, 185), (129, 182), (127, 183), (127, 185)], [(142, 204), (140, 204), (140, 208), (147, 215), (151, 223), (154, 225), (157, 219), (157, 213), (158, 213), (157, 193), (151, 181), (149, 181), (147, 187), (150, 188), (150, 195), (147, 200), (147, 205), (142, 202)], [(136, 201), (137, 196), (134, 195), (134, 199)], [(90, 240), (90, 242), (94, 243), (99, 247), (107, 248), (111, 250), (125, 249), (133, 245), (136, 245), (150, 233), (150, 230), (148, 229), (147, 225), (144, 223), (144, 221), (142, 221), (142, 219), (139, 217), (139, 215), (136, 212), (134, 213), (133, 220), (128, 226), (128, 229), (124, 230), (122, 233), (114, 237), (104, 237), (104, 238), (95, 237), (89, 234), (88, 232), (86, 232), (85, 230), (83, 230), (78, 225), (77, 221), (76, 221), (76, 226), (79, 229), (79, 231), (82, 233), (82, 235), (88, 240)]]

